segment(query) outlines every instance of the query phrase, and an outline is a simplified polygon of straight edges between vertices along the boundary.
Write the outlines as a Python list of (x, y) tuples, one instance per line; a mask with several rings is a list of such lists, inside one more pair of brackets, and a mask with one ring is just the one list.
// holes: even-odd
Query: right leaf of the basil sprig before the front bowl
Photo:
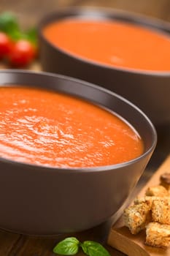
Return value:
[(80, 244), (83, 252), (89, 256), (110, 256), (107, 249), (104, 248), (101, 244), (98, 244), (95, 241), (84, 241)]

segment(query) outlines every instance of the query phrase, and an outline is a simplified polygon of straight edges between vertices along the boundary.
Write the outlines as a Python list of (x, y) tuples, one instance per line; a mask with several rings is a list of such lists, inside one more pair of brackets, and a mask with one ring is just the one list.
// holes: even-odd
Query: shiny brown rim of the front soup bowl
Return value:
[[(32, 171), (37, 171), (37, 172), (55, 172), (55, 173), (96, 173), (96, 172), (103, 172), (103, 171), (109, 171), (109, 170), (116, 170), (118, 168), (122, 168), (128, 165), (133, 165), (135, 162), (139, 162), (140, 159), (144, 159), (147, 157), (147, 155), (152, 154), (152, 151), (154, 151), (155, 146), (157, 144), (158, 140), (158, 135), (155, 129), (155, 126), (152, 124), (152, 121), (150, 121), (150, 118), (147, 117), (147, 115), (136, 105), (134, 105), (132, 102), (130, 102), (128, 99), (125, 99), (124, 97), (120, 96), (119, 94), (116, 94), (115, 92), (109, 91), (108, 89), (104, 89), (101, 86), (96, 86), (93, 83), (86, 82), (84, 80), (80, 80), (78, 78), (72, 78), (66, 75), (61, 75), (61, 74), (55, 74), (51, 72), (36, 72), (36, 71), (31, 71), (31, 70), (26, 70), (26, 69), (0, 69), (0, 77), (2, 75), (31, 75), (31, 76), (42, 76), (43, 77), (48, 77), (48, 78), (59, 78), (61, 80), (67, 80), (67, 81), (72, 81), (75, 83), (80, 83), (82, 85), (88, 86), (90, 88), (98, 89), (99, 91), (106, 92), (107, 94), (112, 95), (113, 97), (119, 99), (120, 101), (125, 102), (125, 104), (130, 105), (133, 109), (135, 109), (141, 116), (144, 117), (144, 119), (147, 121), (147, 124), (150, 126), (150, 130), (152, 133), (152, 143), (151, 146), (145, 150), (139, 157), (136, 157), (134, 159), (131, 159), (127, 162), (122, 162), (119, 164), (115, 165), (103, 165), (103, 166), (98, 166), (98, 167), (50, 167), (50, 166), (43, 166), (43, 165), (33, 165), (25, 162), (18, 162), (18, 161), (13, 161), (10, 159), (5, 159), (3, 157), (0, 157), (0, 165), (1, 162), (4, 164), (10, 164), (10, 165), (15, 165), (18, 167), (28, 167), (29, 170)], [(7, 83), (9, 84), (15, 84), (15, 83)], [(18, 86), (22, 86), (20, 83), (17, 83)], [(23, 84), (23, 83), (22, 83)], [(34, 85), (34, 80), (32, 82)], [(5, 84), (4, 84), (5, 85)], [(26, 84), (25, 84), (26, 85)], [(3, 84), (0, 82), (0, 87), (3, 87)], [(35, 88), (38, 86), (34, 86)], [(48, 89), (48, 88), (47, 88)], [(58, 91), (56, 89), (56, 91)], [(75, 94), (72, 94), (73, 97)], [(86, 98), (88, 100), (88, 97)]]

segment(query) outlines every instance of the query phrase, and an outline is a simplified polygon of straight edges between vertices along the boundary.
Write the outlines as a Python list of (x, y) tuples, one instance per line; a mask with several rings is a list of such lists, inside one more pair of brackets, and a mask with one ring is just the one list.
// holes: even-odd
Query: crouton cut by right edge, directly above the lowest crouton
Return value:
[(170, 199), (161, 198), (152, 201), (152, 222), (170, 225)]

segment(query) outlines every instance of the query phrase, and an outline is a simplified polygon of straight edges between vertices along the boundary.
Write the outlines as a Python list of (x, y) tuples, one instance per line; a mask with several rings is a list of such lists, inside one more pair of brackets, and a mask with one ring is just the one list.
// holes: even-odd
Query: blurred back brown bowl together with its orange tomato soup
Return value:
[(72, 8), (39, 26), (42, 68), (116, 92), (170, 123), (170, 26), (128, 12)]

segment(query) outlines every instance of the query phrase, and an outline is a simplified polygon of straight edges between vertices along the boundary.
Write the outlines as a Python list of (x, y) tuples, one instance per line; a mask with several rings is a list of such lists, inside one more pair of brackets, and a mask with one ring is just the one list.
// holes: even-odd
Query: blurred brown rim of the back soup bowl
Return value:
[[(170, 39), (170, 23), (158, 18), (151, 18), (147, 15), (140, 15), (134, 12), (128, 12), (125, 10), (116, 10), (108, 7), (61, 7), (57, 11), (53, 11), (45, 15), (38, 24), (38, 36), (39, 41), (44, 41), (48, 47), (53, 50), (58, 50), (63, 55), (80, 61), (82, 63), (88, 64), (90, 66), (101, 67), (107, 70), (115, 70), (117, 72), (127, 72), (131, 74), (140, 75), (150, 75), (150, 76), (161, 76), (170, 77), (169, 71), (159, 71), (159, 70), (147, 70), (147, 69), (134, 69), (129, 67), (116, 67), (109, 64), (100, 63), (95, 60), (87, 59), (82, 56), (75, 55), (63, 48), (54, 45), (52, 42), (47, 40), (44, 36), (42, 29), (55, 20), (65, 20), (66, 18), (76, 18), (76, 17), (89, 17), (91, 14), (98, 15), (98, 20), (119, 20), (120, 22), (127, 22), (135, 24), (137, 26), (142, 26), (144, 28), (150, 29), (151, 31), (158, 32), (158, 34), (163, 34)], [(59, 18), (58, 15), (63, 15), (63, 18)]]

